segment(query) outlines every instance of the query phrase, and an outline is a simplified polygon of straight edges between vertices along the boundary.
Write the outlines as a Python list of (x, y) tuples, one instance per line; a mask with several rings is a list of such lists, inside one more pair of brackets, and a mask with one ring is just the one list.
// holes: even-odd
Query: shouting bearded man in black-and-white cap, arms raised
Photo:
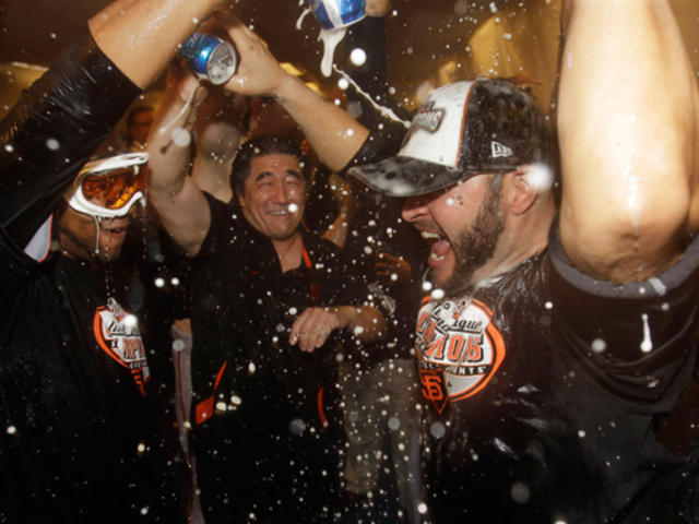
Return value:
[[(416, 326), (430, 522), (699, 515), (696, 461), (653, 436), (696, 359), (695, 75), (667, 1), (564, 8), (558, 215), (544, 117), (499, 81), (435, 91), (398, 156), (351, 171), (407, 198), (433, 242)], [(229, 88), (279, 96), (333, 169), (376, 158), (379, 133), (230, 35), (247, 52)]]

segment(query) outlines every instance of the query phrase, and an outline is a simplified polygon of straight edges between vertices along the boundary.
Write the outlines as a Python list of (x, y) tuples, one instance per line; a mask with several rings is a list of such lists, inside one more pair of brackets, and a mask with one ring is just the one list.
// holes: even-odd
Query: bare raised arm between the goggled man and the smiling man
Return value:
[(173, 63), (147, 140), (149, 202), (168, 235), (191, 255), (199, 252), (211, 224), (206, 199), (189, 176), (193, 117), (205, 96), (193, 74)]

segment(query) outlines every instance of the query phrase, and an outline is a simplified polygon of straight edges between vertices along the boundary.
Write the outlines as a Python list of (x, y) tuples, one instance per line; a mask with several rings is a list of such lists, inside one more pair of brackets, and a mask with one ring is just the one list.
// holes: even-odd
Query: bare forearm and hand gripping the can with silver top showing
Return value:
[(345, 167), (369, 131), (284, 71), (262, 40), (239, 21), (229, 16), (221, 16), (220, 21), (240, 52), (238, 72), (226, 88), (242, 95), (279, 98), (318, 152), (320, 160), (333, 171)]

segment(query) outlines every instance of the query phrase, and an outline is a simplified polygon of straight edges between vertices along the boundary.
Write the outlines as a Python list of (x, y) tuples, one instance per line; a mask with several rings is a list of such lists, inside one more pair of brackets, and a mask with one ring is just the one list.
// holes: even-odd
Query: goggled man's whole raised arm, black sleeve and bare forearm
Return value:
[[(90, 21), (0, 122), (0, 226), (20, 246), (54, 211), (177, 44), (222, 0), (120, 0)], [(47, 144), (51, 144), (47, 147)]]

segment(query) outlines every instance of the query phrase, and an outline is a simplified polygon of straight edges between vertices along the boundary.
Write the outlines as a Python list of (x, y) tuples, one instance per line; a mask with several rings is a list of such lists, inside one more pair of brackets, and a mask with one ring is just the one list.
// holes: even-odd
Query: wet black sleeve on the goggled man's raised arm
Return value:
[(0, 122), (0, 225), (24, 246), (141, 90), (87, 33)]

